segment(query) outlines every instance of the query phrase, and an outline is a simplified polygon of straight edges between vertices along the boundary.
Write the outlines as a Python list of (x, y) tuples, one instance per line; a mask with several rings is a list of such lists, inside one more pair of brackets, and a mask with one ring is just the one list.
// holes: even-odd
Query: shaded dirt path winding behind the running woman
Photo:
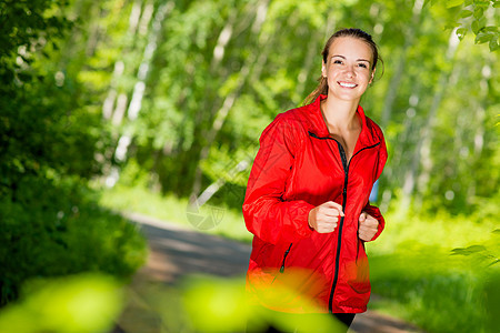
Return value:
[[(139, 214), (128, 214), (148, 239), (148, 263), (134, 276), (129, 290), (129, 304), (113, 333), (176, 332), (173, 285), (190, 274), (244, 276), (250, 256), (248, 244), (208, 235), (179, 225)], [(170, 302), (169, 302), (170, 300)], [(170, 315), (170, 317), (169, 317)], [(169, 322), (166, 330), (164, 322)], [(173, 325), (173, 329), (172, 329)], [(181, 325), (181, 324), (179, 324)], [(179, 326), (179, 332), (182, 330)], [(399, 320), (373, 311), (358, 314), (352, 333), (422, 332)]]

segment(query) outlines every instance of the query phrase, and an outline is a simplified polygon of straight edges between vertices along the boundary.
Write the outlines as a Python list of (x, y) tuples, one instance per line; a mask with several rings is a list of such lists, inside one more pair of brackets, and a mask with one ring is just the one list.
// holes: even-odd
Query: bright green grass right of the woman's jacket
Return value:
[(391, 223), (377, 242), (367, 244), (372, 291), (382, 296), (371, 306), (427, 332), (494, 332), (489, 326), (498, 312), (494, 220), (479, 223), (447, 213), (428, 220), (386, 218)]

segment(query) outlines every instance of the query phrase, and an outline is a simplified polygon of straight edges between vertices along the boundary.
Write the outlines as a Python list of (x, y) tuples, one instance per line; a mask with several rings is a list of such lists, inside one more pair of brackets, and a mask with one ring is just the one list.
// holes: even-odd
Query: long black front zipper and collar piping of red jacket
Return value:
[[(336, 139), (333, 139), (331, 137), (320, 138), (312, 132), (309, 132), (309, 135), (311, 135), (316, 139), (321, 139), (321, 140), (333, 140), (337, 142), (337, 145), (339, 147), (340, 159), (342, 160), (342, 167), (343, 167), (342, 212), (346, 213), (347, 186), (348, 186), (348, 181), (349, 181), (349, 165), (351, 164), (352, 158), (356, 157), (357, 154), (359, 154), (363, 150), (376, 148), (377, 145), (380, 144), (380, 142), (376, 143), (373, 145), (369, 145), (369, 147), (364, 147), (363, 149), (360, 149), (348, 161), (346, 158), (346, 151), (343, 150), (342, 144), (340, 144), (340, 142), (337, 141)], [(336, 253), (336, 271), (334, 271), (333, 282), (332, 282), (331, 291), (330, 291), (330, 300), (328, 302), (328, 311), (330, 313), (333, 313), (333, 294), (336, 293), (337, 281), (339, 280), (339, 268), (340, 268), (339, 258), (340, 258), (340, 249), (342, 248), (341, 245), (342, 245), (343, 220), (344, 220), (344, 216), (341, 216), (340, 222), (339, 222), (339, 233), (338, 233), (338, 239), (337, 239), (337, 253)]]

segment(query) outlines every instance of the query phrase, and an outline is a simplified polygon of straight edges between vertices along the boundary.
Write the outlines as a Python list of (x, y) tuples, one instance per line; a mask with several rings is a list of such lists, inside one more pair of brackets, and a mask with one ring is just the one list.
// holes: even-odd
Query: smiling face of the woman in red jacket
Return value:
[(373, 80), (373, 52), (368, 43), (353, 37), (333, 40), (322, 63), (322, 75), (328, 81), (328, 97), (359, 102)]

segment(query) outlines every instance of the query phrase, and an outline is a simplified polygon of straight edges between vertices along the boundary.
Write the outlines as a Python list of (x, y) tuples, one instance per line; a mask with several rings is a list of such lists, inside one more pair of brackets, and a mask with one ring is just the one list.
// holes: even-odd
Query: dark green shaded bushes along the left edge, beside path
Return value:
[(0, 3), (1, 306), (29, 279), (87, 271), (127, 279), (144, 262), (136, 228), (87, 190), (110, 137), (86, 105), (92, 99), (79, 72), (63, 65), (68, 4)]

